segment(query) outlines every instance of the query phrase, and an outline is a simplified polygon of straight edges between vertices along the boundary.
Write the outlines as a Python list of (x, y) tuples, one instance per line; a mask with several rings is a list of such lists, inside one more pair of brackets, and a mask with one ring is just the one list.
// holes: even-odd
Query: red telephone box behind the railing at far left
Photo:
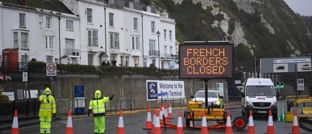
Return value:
[(2, 65), (10, 69), (18, 68), (18, 50), (14, 48), (7, 48), (2, 50)]

